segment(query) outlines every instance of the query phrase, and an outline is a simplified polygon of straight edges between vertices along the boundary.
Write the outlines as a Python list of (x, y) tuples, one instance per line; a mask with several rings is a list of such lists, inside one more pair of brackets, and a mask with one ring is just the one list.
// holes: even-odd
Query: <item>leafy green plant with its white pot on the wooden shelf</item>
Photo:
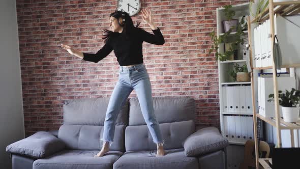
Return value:
[[(285, 93), (278, 91), (279, 105), (282, 109), (283, 120), (285, 122), (297, 122), (300, 109), (298, 106), (300, 90), (292, 88), (291, 91), (285, 91)], [(269, 94), (269, 98), (272, 99), (267, 100), (268, 102), (274, 101), (274, 94)]]

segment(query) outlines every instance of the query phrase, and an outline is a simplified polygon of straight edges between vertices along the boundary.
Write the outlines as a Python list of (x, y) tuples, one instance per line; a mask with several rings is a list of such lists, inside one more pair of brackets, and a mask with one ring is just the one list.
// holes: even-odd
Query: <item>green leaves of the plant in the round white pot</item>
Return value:
[[(285, 90), (285, 93), (278, 91), (279, 104), (283, 107), (296, 107), (299, 103), (300, 90), (292, 88), (291, 91)], [(274, 101), (274, 94), (269, 94), (268, 102)]]

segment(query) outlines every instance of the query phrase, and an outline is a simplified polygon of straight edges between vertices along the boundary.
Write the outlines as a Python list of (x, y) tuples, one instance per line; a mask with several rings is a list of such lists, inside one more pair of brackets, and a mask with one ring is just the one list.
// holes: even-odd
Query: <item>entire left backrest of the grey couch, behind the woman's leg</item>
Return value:
[[(110, 98), (83, 98), (64, 102), (64, 124), (58, 130), (58, 138), (67, 148), (74, 150), (100, 150), (103, 126)], [(128, 99), (119, 111), (114, 140), (110, 150), (125, 151), (124, 132), (128, 125)]]

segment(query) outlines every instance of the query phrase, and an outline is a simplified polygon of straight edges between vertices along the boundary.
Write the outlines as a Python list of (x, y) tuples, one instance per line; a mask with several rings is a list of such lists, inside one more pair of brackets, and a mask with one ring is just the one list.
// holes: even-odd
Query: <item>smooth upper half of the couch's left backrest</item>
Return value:
[[(108, 98), (82, 98), (64, 102), (64, 124), (104, 126)], [(128, 124), (128, 99), (119, 111), (116, 125)]]

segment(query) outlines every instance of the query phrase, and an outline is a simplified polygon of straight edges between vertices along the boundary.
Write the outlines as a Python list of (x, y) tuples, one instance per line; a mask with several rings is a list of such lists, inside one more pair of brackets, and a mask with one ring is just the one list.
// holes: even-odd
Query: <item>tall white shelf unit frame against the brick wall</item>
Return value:
[[(244, 4), (238, 4), (238, 5), (232, 5), (231, 10), (235, 11), (235, 16), (233, 17), (233, 19), (238, 19), (239, 17), (242, 16), (248, 16), (249, 15), (249, 3), (244, 3)], [(218, 37), (223, 35), (223, 23), (222, 21), (226, 20), (225, 15), (224, 15), (224, 8), (218, 8), (217, 9), (217, 35)], [(245, 17), (245, 21), (247, 22), (247, 17)], [(248, 31), (244, 31), (246, 34), (246, 36), (248, 36)], [(232, 35), (235, 32), (231, 33)], [(248, 38), (248, 37), (246, 37)], [(225, 50), (224, 44), (220, 44), (219, 45), (219, 52), (223, 53)], [(239, 53), (240, 54), (240, 53)], [(243, 58), (242, 55), (239, 55), (238, 58)], [(220, 61), (218, 60), (218, 66), (219, 66), (219, 96), (220, 96), (220, 126), (221, 126), (221, 133), (223, 136), (226, 137), (225, 133), (225, 124), (224, 124), (224, 115), (225, 116), (241, 116), (240, 112), (225, 112), (223, 109), (223, 86), (244, 86), (244, 85), (251, 85), (251, 81), (249, 82), (232, 82), (232, 80), (229, 77), (229, 73), (228, 71), (230, 71), (233, 68), (234, 64), (238, 64), (238, 65), (244, 65), (246, 64), (246, 60), (228, 60), (228, 61)], [(251, 97), (251, 95), (250, 95)], [(252, 100), (252, 99), (251, 99)], [(246, 116), (252, 116), (251, 115), (247, 115)], [(244, 115), (242, 115), (242, 117), (244, 117)], [(253, 130), (253, 126), (251, 126), (251, 130)], [(253, 139), (253, 137), (252, 137)], [(232, 141), (229, 140), (229, 143), (232, 145), (245, 145), (246, 140), (243, 140), (243, 142), (236, 142), (236, 141)]]

